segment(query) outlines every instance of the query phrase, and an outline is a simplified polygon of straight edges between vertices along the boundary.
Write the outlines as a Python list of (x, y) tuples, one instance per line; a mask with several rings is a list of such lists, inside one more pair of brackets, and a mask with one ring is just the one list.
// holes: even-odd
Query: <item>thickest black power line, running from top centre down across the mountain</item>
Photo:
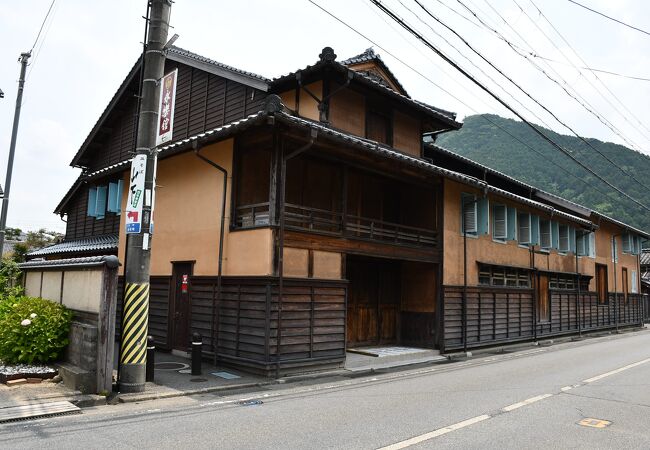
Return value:
[[(311, 0), (310, 0), (311, 1)], [(521, 119), (526, 125), (528, 125), (536, 134), (538, 134), (542, 139), (547, 141), (549, 144), (551, 144), (554, 148), (557, 148), (559, 151), (567, 155), (569, 158), (571, 158), (576, 164), (580, 165), (583, 169), (591, 173), (593, 176), (598, 178), (600, 181), (608, 185), (610, 188), (616, 190), (618, 193), (623, 195), (624, 197), (632, 200), (634, 203), (638, 204), (641, 206), (643, 209), (650, 211), (650, 207), (644, 205), (634, 197), (630, 196), (626, 192), (622, 191), (618, 187), (614, 186), (612, 183), (604, 179), (602, 176), (598, 175), (596, 172), (594, 172), (593, 169), (590, 167), (586, 166), (584, 163), (582, 163), (580, 160), (578, 160), (575, 156), (573, 156), (569, 151), (567, 151), (565, 148), (561, 147), (559, 144), (557, 144), (555, 141), (553, 141), (550, 137), (548, 137), (544, 132), (542, 132), (539, 128), (537, 128), (534, 124), (526, 120), (525, 117), (523, 117), (517, 110), (515, 110), (512, 106), (510, 106), (508, 103), (506, 103), (503, 99), (501, 99), (498, 95), (493, 93), (490, 89), (485, 87), (481, 82), (479, 82), (477, 79), (475, 79), (472, 75), (467, 73), (465, 69), (460, 67), (458, 64), (454, 63), (447, 55), (445, 55), (442, 51), (440, 51), (436, 46), (434, 46), (431, 42), (429, 42), (427, 39), (425, 39), (420, 33), (418, 33), (416, 30), (414, 30), (412, 27), (404, 23), (402, 19), (400, 19), (398, 16), (395, 15), (393, 11), (388, 9), (386, 6), (384, 6), (380, 1), (378, 0), (371, 0), (375, 6), (377, 6), (381, 11), (383, 11), (386, 15), (388, 15), (391, 19), (393, 19), (395, 22), (397, 22), (399, 25), (402, 26), (405, 30), (407, 30), (409, 33), (411, 33), (414, 37), (416, 37), (418, 40), (420, 40), (424, 45), (429, 47), (434, 53), (436, 53), (438, 56), (440, 56), (444, 61), (446, 61), (448, 64), (450, 64), (452, 67), (454, 67), (456, 70), (458, 70), (462, 75), (464, 75), (466, 78), (468, 78), (472, 83), (477, 85), (480, 89), (488, 93), (492, 98), (494, 98), (497, 102), (499, 102), (501, 105), (503, 105), (505, 108), (507, 108), (511, 113), (516, 115), (519, 119)]]

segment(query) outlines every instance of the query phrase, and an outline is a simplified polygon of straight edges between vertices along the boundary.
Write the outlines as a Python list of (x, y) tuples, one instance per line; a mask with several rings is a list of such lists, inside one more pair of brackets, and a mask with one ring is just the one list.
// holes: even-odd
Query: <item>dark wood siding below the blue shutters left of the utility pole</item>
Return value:
[(120, 216), (117, 214), (107, 212), (103, 219), (88, 216), (87, 185), (82, 185), (70, 200), (67, 213), (66, 241), (90, 236), (116, 234), (120, 228)]

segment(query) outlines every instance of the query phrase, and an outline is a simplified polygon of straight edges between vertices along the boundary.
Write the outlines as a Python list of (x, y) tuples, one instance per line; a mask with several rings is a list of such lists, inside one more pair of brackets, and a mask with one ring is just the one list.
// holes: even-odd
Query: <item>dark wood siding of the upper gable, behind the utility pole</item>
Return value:
[[(242, 119), (262, 109), (266, 93), (201, 69), (168, 60), (165, 72), (178, 67), (173, 140)], [(109, 114), (86, 150), (88, 169), (95, 171), (128, 159), (135, 150), (137, 82)]]

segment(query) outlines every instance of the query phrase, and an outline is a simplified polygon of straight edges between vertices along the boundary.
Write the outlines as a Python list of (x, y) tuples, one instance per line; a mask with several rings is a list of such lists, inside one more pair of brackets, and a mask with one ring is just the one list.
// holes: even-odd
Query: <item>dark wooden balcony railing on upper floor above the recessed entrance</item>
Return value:
[[(426, 228), (368, 217), (344, 215), (336, 211), (285, 204), (285, 225), (289, 229), (309, 230), (348, 238), (368, 239), (400, 245), (435, 247), (438, 234)], [(270, 224), (269, 203), (239, 206), (234, 225), (253, 228)]]

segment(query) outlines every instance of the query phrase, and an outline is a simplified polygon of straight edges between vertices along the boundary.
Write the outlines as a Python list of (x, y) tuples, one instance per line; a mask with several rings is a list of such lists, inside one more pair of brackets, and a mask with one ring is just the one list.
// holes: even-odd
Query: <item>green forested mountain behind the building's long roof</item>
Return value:
[[(587, 139), (641, 186), (577, 137), (541, 129), (598, 175), (650, 207), (650, 157), (622, 145)], [(439, 136), (436, 143), (525, 183), (650, 230), (650, 212), (598, 180), (523, 122), (493, 114), (469, 116), (463, 128)]]

